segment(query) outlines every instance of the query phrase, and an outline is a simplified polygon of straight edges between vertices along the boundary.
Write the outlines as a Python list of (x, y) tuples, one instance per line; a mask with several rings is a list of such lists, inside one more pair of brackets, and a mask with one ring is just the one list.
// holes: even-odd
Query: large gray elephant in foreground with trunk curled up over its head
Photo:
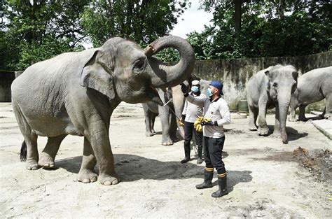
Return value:
[[(153, 57), (163, 48), (178, 50), (180, 61), (169, 66)], [(165, 36), (146, 50), (132, 41), (111, 38), (100, 48), (64, 53), (30, 66), (12, 84), (13, 109), (25, 139), (21, 158), (27, 169), (54, 167), (64, 137), (84, 136), (78, 181), (117, 184), (109, 141), (113, 110), (121, 101), (152, 99), (162, 104), (155, 88), (178, 85), (191, 75), (194, 63), (187, 41)], [(40, 158), (38, 136), (48, 137)], [(94, 171), (97, 163), (99, 176)]]

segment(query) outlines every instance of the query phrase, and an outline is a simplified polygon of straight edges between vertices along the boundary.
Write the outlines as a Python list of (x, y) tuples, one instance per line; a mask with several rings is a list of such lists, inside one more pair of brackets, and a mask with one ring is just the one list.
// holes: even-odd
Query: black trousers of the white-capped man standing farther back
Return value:
[(198, 157), (202, 158), (203, 150), (203, 133), (197, 132), (193, 127), (192, 122), (184, 122), (184, 155), (186, 157), (191, 156), (191, 139), (193, 139), (193, 133), (195, 136), (196, 143), (198, 145)]

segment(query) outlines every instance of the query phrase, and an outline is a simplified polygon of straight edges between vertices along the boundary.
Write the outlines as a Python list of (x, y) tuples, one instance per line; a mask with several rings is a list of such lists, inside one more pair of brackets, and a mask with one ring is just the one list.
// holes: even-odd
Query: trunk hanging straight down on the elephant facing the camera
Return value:
[(289, 92), (289, 94), (286, 95), (278, 94), (278, 96), (283, 97), (283, 98), (278, 98), (280, 134), (282, 135), (282, 142), (287, 143), (286, 120), (287, 120), (289, 104), (291, 102), (291, 97), (290, 97), (291, 92)]

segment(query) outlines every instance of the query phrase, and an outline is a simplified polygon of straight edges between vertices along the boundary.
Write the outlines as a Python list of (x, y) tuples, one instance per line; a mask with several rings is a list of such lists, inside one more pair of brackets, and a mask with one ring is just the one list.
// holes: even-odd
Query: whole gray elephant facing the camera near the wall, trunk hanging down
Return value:
[(249, 108), (249, 130), (258, 135), (268, 134), (266, 111), (275, 107), (275, 127), (273, 136), (282, 137), (287, 143), (286, 118), (291, 101), (291, 94), (297, 86), (298, 71), (294, 66), (277, 64), (258, 71), (247, 84), (247, 101)]

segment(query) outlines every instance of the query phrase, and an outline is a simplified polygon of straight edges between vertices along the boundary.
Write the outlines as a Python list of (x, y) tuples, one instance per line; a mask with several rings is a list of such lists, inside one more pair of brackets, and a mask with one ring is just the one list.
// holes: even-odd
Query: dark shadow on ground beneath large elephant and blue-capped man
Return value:
[[(141, 179), (152, 179), (162, 181), (165, 179), (200, 178), (203, 181), (204, 166), (196, 164), (170, 161), (161, 162), (137, 155), (116, 154), (116, 171), (123, 182), (139, 181)], [(57, 168), (78, 174), (81, 167), (82, 156), (71, 157), (56, 161)], [(97, 168), (96, 168), (97, 169)], [(98, 170), (97, 170), (98, 172)], [(216, 175), (216, 172), (215, 172)], [(228, 171), (228, 189), (233, 190), (237, 183), (247, 183), (252, 180), (251, 171)], [(214, 176), (216, 178), (216, 176)], [(216, 185), (216, 182), (214, 182)]]

